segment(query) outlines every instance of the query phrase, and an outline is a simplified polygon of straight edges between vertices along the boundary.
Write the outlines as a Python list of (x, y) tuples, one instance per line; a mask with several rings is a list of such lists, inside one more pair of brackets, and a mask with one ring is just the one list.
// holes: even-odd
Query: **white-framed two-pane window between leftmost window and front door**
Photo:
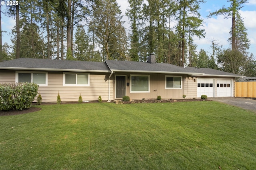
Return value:
[(63, 86), (90, 86), (90, 74), (63, 73)]

